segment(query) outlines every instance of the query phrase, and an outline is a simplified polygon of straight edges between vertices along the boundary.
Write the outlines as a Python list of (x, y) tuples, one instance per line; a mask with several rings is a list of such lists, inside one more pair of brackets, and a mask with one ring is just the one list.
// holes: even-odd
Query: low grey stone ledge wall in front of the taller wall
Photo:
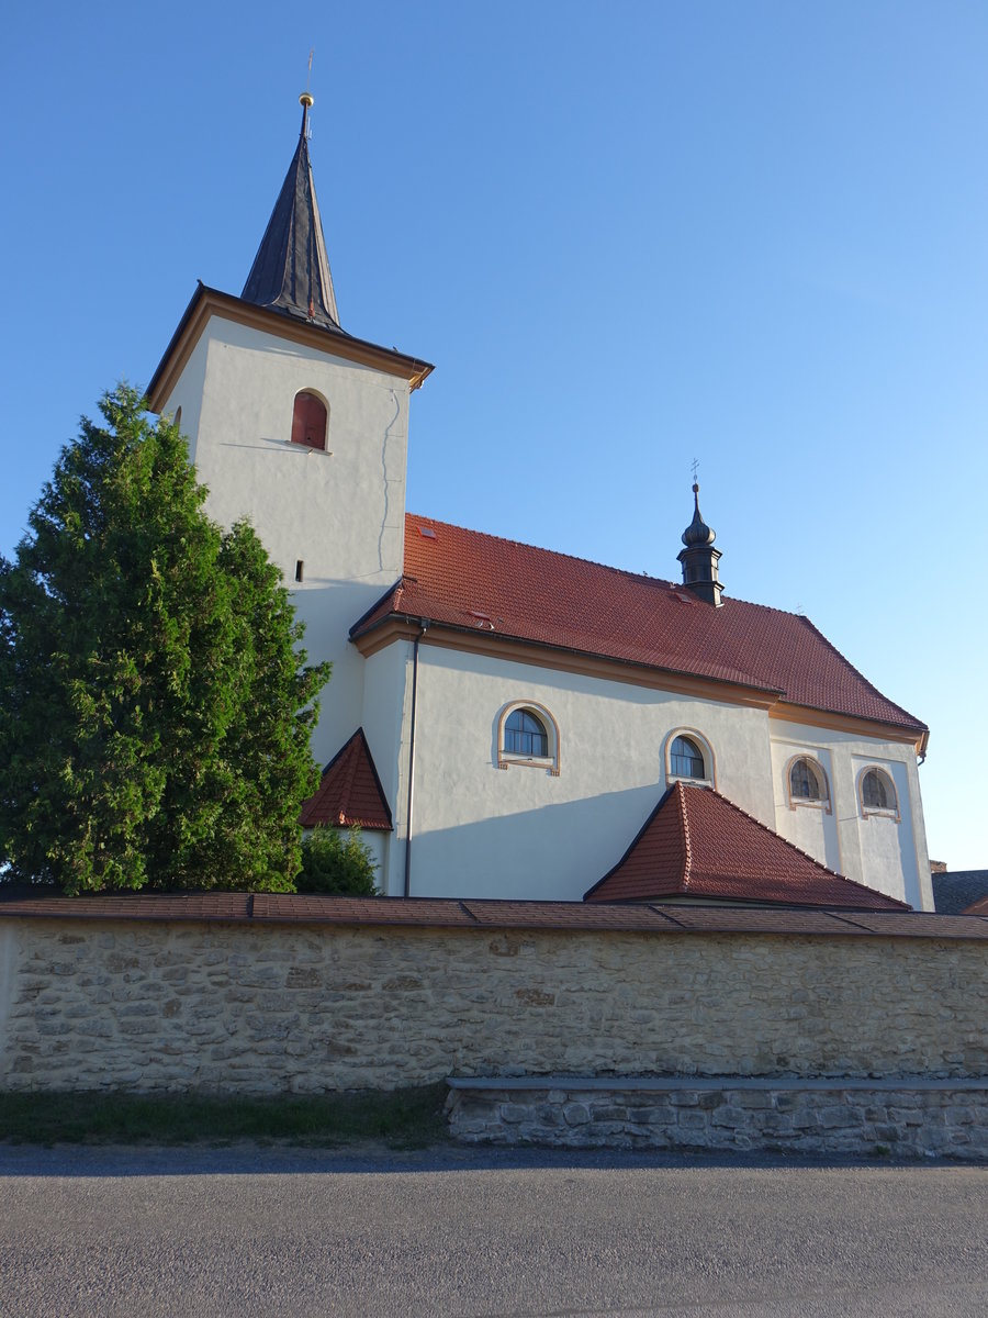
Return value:
[(988, 1159), (980, 1081), (449, 1081), (466, 1144)]

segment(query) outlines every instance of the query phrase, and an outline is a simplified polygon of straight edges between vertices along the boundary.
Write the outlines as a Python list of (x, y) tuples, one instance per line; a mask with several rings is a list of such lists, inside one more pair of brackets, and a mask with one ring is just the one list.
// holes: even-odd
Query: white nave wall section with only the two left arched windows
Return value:
[[(411, 662), (410, 645), (387, 650), (404, 650), (402, 662)], [(410, 679), (391, 895), (402, 891), (407, 687)], [(498, 717), (515, 701), (541, 705), (559, 724), (559, 776), (543, 766), (497, 767)], [(665, 742), (681, 728), (696, 729), (713, 749), (718, 789), (772, 826), (764, 710), (503, 662), (427, 637), (419, 652), (412, 896), (580, 900), (620, 859), (665, 791)]]

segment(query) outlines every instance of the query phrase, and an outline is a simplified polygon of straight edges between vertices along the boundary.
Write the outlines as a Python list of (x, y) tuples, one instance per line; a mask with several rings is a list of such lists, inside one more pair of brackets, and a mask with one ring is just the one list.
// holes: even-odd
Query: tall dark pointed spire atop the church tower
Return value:
[[(241, 298), (260, 307), (340, 331), (312, 167), (308, 162), (311, 95), (299, 96), (302, 132)], [(343, 331), (340, 331), (343, 332)]]

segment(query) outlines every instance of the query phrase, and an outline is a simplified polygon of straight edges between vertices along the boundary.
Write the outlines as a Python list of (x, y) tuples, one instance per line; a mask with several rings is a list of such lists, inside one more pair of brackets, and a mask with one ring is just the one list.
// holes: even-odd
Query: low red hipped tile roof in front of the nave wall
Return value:
[(786, 842), (726, 796), (676, 783), (585, 902), (769, 902), (850, 911), (909, 911)]

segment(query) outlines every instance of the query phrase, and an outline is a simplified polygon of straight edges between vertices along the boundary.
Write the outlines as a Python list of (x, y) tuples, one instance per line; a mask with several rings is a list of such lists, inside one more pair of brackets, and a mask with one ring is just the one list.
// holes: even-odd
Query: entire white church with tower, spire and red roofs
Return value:
[(696, 485), (677, 581), (406, 511), (432, 366), (341, 328), (311, 104), (241, 295), (200, 283), (148, 389), (332, 660), (303, 825), (360, 826), (389, 896), (933, 909), (926, 726), (730, 597)]

